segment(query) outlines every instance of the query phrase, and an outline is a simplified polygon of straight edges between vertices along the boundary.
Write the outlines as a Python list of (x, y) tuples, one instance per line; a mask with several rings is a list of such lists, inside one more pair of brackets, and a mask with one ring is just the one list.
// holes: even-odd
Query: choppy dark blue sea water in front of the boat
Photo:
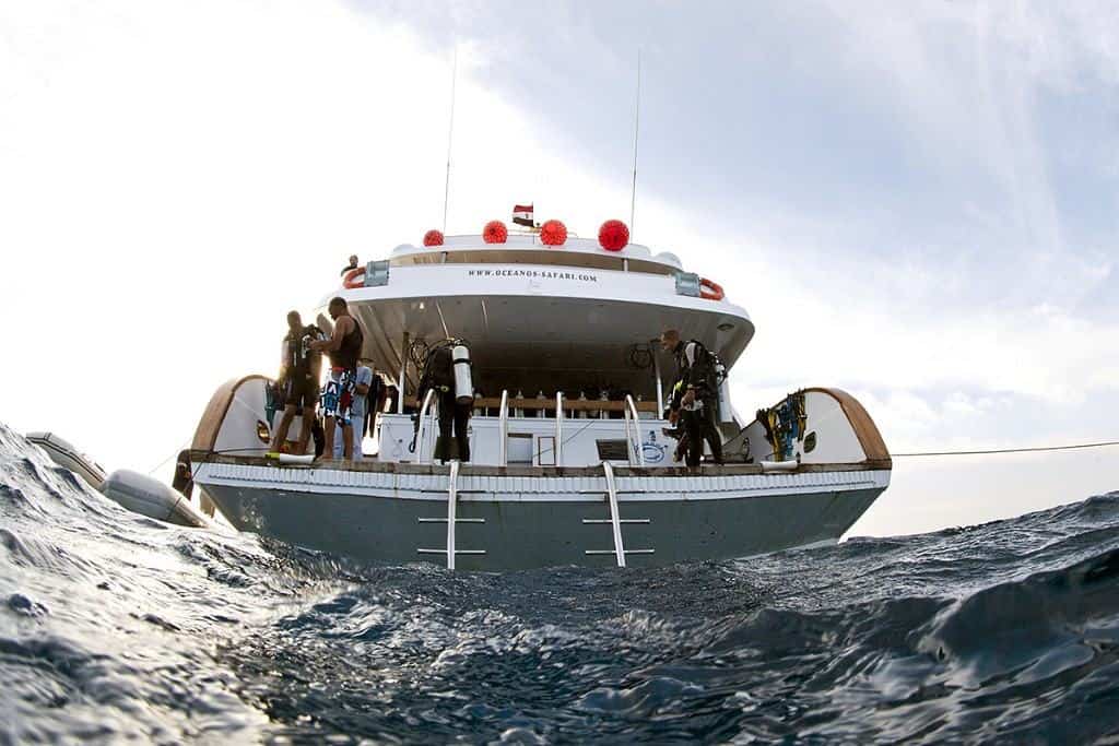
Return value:
[(0, 740), (1119, 736), (1119, 493), (658, 569), (384, 567), (117, 508), (0, 425)]

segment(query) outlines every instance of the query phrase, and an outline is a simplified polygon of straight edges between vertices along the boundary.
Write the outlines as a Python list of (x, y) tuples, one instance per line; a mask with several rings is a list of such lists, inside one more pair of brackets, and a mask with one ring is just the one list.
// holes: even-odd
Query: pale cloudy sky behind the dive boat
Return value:
[[(1119, 440), (1119, 4), (0, 0), (0, 422), (153, 470), (283, 317), (534, 201), (722, 284), (740, 412), (894, 453)], [(1119, 448), (897, 457), (852, 535), (1119, 490)]]

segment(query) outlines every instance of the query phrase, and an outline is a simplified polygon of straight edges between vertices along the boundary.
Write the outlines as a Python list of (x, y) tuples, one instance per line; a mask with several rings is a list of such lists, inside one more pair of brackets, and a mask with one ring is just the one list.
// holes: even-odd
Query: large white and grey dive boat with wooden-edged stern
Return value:
[[(728, 372), (753, 322), (675, 254), (629, 243), (619, 221), (599, 240), (549, 223), (429, 232), (325, 295), (320, 327), (342, 298), (363, 356), (398, 391), (368, 455), (273, 457), (273, 381), (247, 375), (203, 413), (195, 483), (237, 529), (383, 564), (650, 566), (837, 542), (890, 483), (865, 408), (814, 387), (744, 417), (723, 385), (725, 463), (687, 469), (665, 412), (675, 363), (653, 340), (677, 329)], [(443, 464), (435, 406), (417, 406), (416, 385), (445, 339), (469, 347), (476, 399), (471, 459)]]

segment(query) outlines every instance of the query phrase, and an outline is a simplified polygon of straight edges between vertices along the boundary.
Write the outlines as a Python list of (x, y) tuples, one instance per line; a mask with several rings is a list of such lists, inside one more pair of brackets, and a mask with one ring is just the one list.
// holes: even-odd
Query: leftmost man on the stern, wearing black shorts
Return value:
[(283, 355), (280, 362), (280, 393), (283, 397), (283, 416), (272, 438), (272, 450), (280, 451), (288, 440), (288, 428), (300, 412), (303, 417), (299, 431), (299, 454), (307, 453), (314, 423), (314, 408), (319, 405), (319, 371), (321, 353), (311, 349), (311, 342), (320, 339), (317, 327), (304, 327), (298, 311), (288, 314), (288, 334), (283, 338)]

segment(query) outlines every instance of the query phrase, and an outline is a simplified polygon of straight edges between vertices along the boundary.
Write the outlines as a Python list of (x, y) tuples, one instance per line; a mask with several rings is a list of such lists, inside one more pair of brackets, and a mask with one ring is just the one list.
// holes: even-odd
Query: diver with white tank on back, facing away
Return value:
[[(459, 461), (470, 461), (470, 440), (467, 424), (474, 406), (474, 395), (470, 376), (470, 357), (461, 340), (446, 339), (435, 344), (424, 362), (423, 375), (416, 391), (416, 407), (423, 407), (429, 390), (435, 391), (439, 402), (439, 444), (434, 457), (446, 463), (451, 445), (453, 425), (454, 442)], [(423, 417), (421, 410), (420, 415)], [(417, 446), (419, 447), (419, 446)]]

